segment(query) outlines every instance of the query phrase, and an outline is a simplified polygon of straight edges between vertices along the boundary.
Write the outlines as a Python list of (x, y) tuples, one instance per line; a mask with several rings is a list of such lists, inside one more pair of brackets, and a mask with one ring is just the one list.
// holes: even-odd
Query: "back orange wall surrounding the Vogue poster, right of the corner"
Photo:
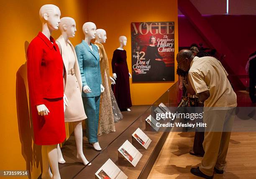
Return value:
[[(95, 3), (97, 2), (97, 3)], [(97, 0), (88, 2), (88, 20), (97, 28), (107, 31), (104, 44), (111, 63), (113, 51), (119, 47), (118, 37), (127, 37), (127, 62), (131, 73), (131, 23), (174, 21), (175, 54), (178, 53), (178, 7), (177, 0)], [(177, 67), (176, 61), (175, 66)], [(110, 72), (112, 72), (110, 70)], [(175, 72), (176, 73), (176, 72)], [(175, 76), (177, 81), (177, 76)], [(152, 104), (173, 83), (132, 83), (131, 98), (133, 105)]]

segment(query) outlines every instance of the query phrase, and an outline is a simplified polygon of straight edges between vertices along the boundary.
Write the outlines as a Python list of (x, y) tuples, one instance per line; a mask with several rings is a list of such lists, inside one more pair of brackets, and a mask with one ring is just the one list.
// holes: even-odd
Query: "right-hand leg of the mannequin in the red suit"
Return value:
[(51, 166), (51, 171), (53, 173), (52, 179), (61, 179), (59, 174), (57, 144), (47, 146), (47, 154), (48, 154), (48, 159)]

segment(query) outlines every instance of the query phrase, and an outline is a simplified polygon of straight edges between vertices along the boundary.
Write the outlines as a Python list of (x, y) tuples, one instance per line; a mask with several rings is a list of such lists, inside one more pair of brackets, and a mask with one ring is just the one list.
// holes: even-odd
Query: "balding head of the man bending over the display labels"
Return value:
[(189, 71), (190, 63), (194, 57), (194, 53), (191, 50), (180, 50), (176, 57), (178, 68), (183, 71)]

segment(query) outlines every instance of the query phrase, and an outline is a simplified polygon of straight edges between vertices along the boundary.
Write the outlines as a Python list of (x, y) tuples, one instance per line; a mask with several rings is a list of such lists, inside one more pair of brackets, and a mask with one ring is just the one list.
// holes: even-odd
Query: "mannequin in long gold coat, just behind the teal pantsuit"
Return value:
[(105, 43), (107, 39), (107, 33), (103, 29), (96, 30), (96, 40), (95, 45), (98, 47), (100, 55), (100, 71), (102, 85), (105, 88), (105, 91), (101, 94), (100, 97), (100, 118), (99, 118), (99, 129), (98, 135), (108, 134), (109, 132), (115, 132), (115, 121), (112, 110), (110, 88), (111, 82), (115, 82), (113, 78), (109, 75), (109, 65), (108, 65), (108, 56), (104, 49), (102, 43)]

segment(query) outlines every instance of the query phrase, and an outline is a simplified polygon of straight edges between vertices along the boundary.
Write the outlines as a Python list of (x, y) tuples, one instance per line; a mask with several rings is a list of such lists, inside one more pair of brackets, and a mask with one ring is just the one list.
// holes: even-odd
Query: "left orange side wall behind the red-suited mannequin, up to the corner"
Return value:
[[(44, 4), (57, 5), (61, 17), (70, 16), (76, 20), (77, 29), (87, 21), (87, 3), (83, 0), (1, 2), (0, 170), (32, 170), (33, 179), (41, 174), (41, 147), (34, 145), (31, 139), (25, 46), (41, 31), (38, 12)], [(53, 33), (54, 38), (59, 35), (59, 30)], [(78, 30), (71, 41), (77, 44), (82, 38), (84, 35)]]

